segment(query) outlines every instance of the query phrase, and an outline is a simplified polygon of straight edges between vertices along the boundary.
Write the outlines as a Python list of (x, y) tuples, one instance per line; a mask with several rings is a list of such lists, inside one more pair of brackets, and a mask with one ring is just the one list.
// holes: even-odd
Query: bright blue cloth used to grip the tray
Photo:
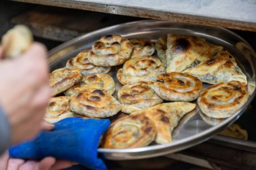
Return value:
[(100, 136), (107, 130), (106, 119), (66, 118), (55, 123), (55, 130), (42, 131), (30, 142), (9, 149), (13, 158), (42, 159), (55, 157), (84, 165), (90, 169), (106, 169), (97, 157)]

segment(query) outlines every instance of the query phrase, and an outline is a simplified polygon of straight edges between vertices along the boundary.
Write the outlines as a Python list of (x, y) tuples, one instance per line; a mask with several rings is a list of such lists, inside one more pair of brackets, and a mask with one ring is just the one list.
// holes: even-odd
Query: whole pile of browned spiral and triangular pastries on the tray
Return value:
[[(115, 77), (107, 73), (119, 65), (123, 67), (115, 76), (122, 86), (117, 88)], [(212, 86), (203, 89), (203, 83)], [(204, 38), (178, 34), (156, 43), (104, 36), (53, 71), (50, 84), (53, 97), (45, 116), (49, 122), (126, 114), (104, 134), (104, 148), (172, 142), (172, 130), (197, 105), (204, 116), (223, 119), (248, 98), (247, 77), (227, 50)]]

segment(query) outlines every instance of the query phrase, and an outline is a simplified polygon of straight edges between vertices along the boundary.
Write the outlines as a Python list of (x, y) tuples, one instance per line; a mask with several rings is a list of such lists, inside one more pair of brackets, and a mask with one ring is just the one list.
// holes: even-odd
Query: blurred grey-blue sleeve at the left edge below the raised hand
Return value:
[(0, 107), (0, 155), (7, 150), (11, 142), (11, 130), (9, 121), (3, 109)]

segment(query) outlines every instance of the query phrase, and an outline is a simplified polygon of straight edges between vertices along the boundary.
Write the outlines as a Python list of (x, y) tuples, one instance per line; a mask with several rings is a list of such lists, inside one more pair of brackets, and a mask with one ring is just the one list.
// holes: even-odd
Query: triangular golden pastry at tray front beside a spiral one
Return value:
[(143, 114), (150, 118), (156, 126), (155, 142), (158, 144), (166, 144), (172, 142), (172, 130), (179, 124), (179, 120), (181, 120), (185, 114), (194, 110), (195, 106), (194, 103), (181, 101), (162, 103), (152, 108), (139, 110), (134, 114)]

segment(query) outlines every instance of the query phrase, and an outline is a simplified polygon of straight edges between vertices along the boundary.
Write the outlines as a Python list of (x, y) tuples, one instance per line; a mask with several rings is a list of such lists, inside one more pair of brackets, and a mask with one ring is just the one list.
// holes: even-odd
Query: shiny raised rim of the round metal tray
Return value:
[[(65, 46), (69, 46), (70, 44), (73, 44), (74, 42), (80, 40), (80, 39), (84, 39), (86, 38), (86, 36), (91, 36), (92, 34), (97, 34), (98, 32), (104, 32), (105, 30), (112, 30), (114, 28), (123, 28), (127, 25), (135, 25), (135, 24), (143, 24), (145, 22), (150, 22), (150, 23), (156, 23), (156, 22), (163, 22), (163, 23), (171, 23), (171, 24), (175, 24), (178, 22), (169, 22), (169, 21), (160, 21), (160, 20), (156, 20), (156, 19), (143, 19), (140, 21), (135, 21), (135, 22), (127, 22), (127, 23), (123, 23), (123, 24), (117, 24), (115, 26), (108, 26), (106, 28), (102, 28), (100, 30), (95, 30), (93, 32), (88, 32), (86, 34), (83, 34), (82, 36), (78, 36), (77, 38), (73, 38), (72, 40), (69, 40), (67, 42), (64, 42), (63, 44), (60, 44), (59, 46), (53, 48), (52, 50), (49, 51), (49, 56), (53, 55), (55, 52), (58, 52), (59, 50), (61, 50), (62, 48), (65, 48)], [(181, 24), (181, 23), (180, 23)], [(184, 23), (183, 23), (184, 24)], [(198, 27), (205, 27), (205, 28), (217, 28), (219, 30), (223, 30), (224, 32), (228, 32), (229, 34), (232, 34), (233, 36), (236, 36), (237, 38), (241, 39), (243, 42), (245, 42), (247, 44), (247, 46), (250, 48), (251, 51), (254, 52), (253, 56), (256, 58), (256, 54), (255, 51), (253, 49), (253, 47), (247, 42), (247, 40), (245, 40), (244, 38), (242, 38), (241, 36), (239, 36), (238, 34), (227, 30), (226, 28), (220, 28), (220, 27), (212, 27), (212, 26), (200, 26), (200, 25), (195, 25), (195, 24), (185, 24), (186, 26), (198, 26)], [(115, 34), (115, 33), (114, 33)], [(49, 62), (54, 62), (54, 59), (50, 57), (49, 58)], [(50, 63), (50, 65), (51, 65)], [(256, 68), (255, 68), (256, 69)], [(256, 81), (255, 81), (256, 83)], [(113, 159), (113, 160), (128, 160), (128, 159), (143, 159), (143, 158), (148, 158), (148, 157), (156, 157), (156, 156), (160, 156), (160, 155), (166, 155), (168, 153), (174, 153), (177, 151), (181, 151), (185, 148), (189, 148), (191, 146), (195, 146), (196, 144), (199, 144), (201, 142), (204, 142), (210, 138), (212, 138), (214, 136), (214, 134), (216, 134), (216, 129), (220, 130), (220, 129), (224, 129), (226, 128), (226, 126), (232, 124), (234, 121), (236, 121), (242, 114), (243, 112), (245, 112), (245, 109), (247, 108), (247, 106), (249, 105), (249, 103), (251, 103), (251, 101), (255, 98), (256, 95), (256, 89), (253, 91), (253, 93), (251, 94), (251, 96), (249, 97), (249, 99), (247, 100), (247, 103), (245, 103), (245, 105), (243, 105), (243, 107), (238, 110), (235, 114), (233, 114), (230, 118), (227, 118), (226, 120), (224, 120), (223, 122), (221, 122), (220, 124), (218, 124), (218, 126), (213, 126), (212, 128), (208, 128), (207, 130), (203, 130), (203, 132), (200, 132), (199, 134), (195, 134), (193, 136), (189, 136), (187, 138), (183, 138), (179, 141), (174, 141), (174, 142), (170, 142), (168, 144), (156, 144), (156, 145), (150, 145), (150, 146), (143, 146), (143, 147), (139, 147), (139, 148), (98, 148), (98, 153), (102, 153), (104, 155), (105, 158), (107, 159)], [(197, 105), (198, 107), (198, 105)], [(210, 134), (209, 136), (207, 136), (207, 138), (205, 138), (205, 134)], [(156, 151), (159, 149), (164, 149), (164, 148), (169, 148), (172, 146), (178, 146), (178, 145), (183, 145), (186, 142), (193, 142), (193, 144), (187, 144), (187, 146), (180, 146), (180, 148), (182, 147), (182, 149), (178, 149), (177, 151), (175, 151), (175, 149), (173, 149), (172, 151), (166, 151), (166, 154), (162, 154), (162, 153), (151, 153), (150, 156), (147, 155), (143, 155), (143, 152), (148, 152), (148, 151)], [(180, 144), (179, 144), (180, 143)], [(108, 157), (108, 155), (106, 154), (136, 154), (139, 153), (142, 155), (139, 156), (135, 156), (133, 158), (133, 156), (131, 155), (131, 157), (129, 157), (128, 155), (125, 155), (125, 158), (119, 158), (119, 157)]]

